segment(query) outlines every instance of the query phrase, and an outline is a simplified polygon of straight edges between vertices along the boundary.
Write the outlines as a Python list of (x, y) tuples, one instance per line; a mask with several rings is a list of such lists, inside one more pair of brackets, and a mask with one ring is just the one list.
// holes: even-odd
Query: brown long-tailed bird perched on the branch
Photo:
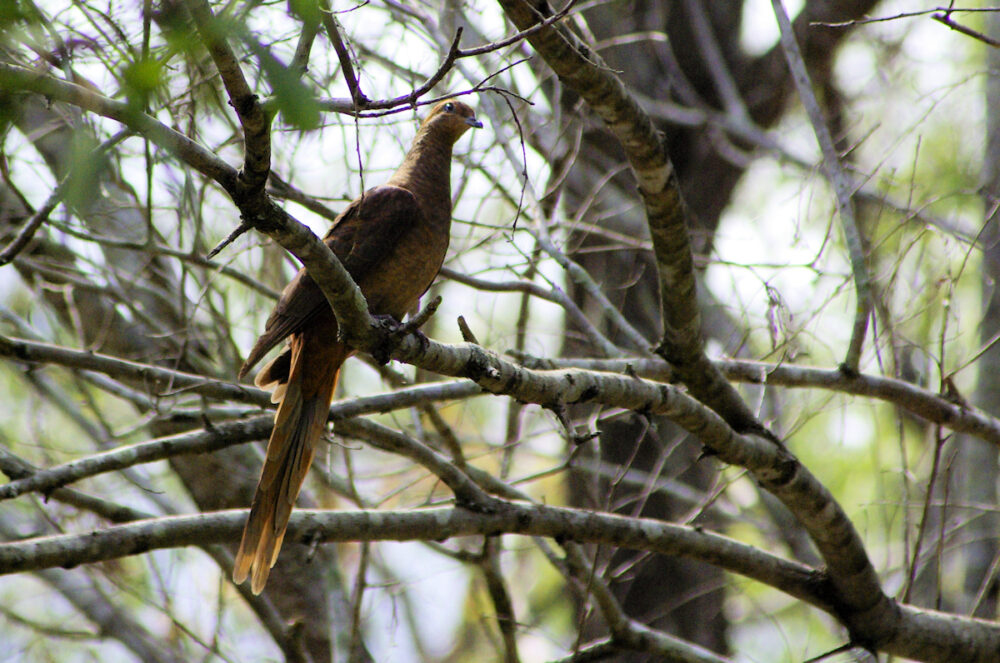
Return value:
[[(389, 181), (349, 204), (327, 232), (324, 241), (361, 287), (372, 313), (402, 318), (437, 276), (451, 226), (452, 146), (470, 127), (481, 126), (463, 103), (435, 106)], [(288, 348), (254, 380), (272, 389), (271, 400), (278, 403), (233, 569), (237, 583), (252, 576), (254, 594), (264, 589), (278, 557), (323, 435), (340, 367), (354, 353), (337, 341), (333, 311), (304, 269), (281, 293), (240, 377), (287, 337)]]

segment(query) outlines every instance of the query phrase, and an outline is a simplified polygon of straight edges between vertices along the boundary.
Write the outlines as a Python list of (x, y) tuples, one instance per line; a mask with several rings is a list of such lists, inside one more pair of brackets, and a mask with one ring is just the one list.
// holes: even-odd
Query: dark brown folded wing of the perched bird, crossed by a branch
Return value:
[[(323, 241), (358, 282), (389, 255), (407, 230), (421, 221), (420, 206), (410, 191), (395, 186), (375, 187), (340, 213)], [(323, 292), (306, 270), (300, 269), (282, 291), (240, 376), (289, 334), (302, 329), (324, 306), (328, 304)]]

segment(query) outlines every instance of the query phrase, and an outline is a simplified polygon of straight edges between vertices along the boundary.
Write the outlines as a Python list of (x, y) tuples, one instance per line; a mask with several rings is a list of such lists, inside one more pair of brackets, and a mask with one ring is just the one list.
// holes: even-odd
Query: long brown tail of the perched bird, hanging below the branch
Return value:
[[(279, 404), (233, 567), (233, 581), (239, 584), (250, 576), (254, 594), (264, 589), (278, 558), (292, 506), (323, 435), (340, 367), (351, 354), (345, 345), (311, 342), (317, 339), (310, 336), (292, 338), (287, 382), (280, 380), (284, 376), (275, 378), (271, 364), (255, 380), (258, 386), (274, 387), (272, 400)], [(289, 366), (287, 357), (279, 356), (275, 362)]]

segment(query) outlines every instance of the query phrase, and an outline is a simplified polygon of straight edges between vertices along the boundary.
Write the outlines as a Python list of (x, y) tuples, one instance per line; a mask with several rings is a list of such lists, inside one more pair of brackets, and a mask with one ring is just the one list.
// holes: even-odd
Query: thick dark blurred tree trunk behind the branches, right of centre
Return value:
[[(860, 17), (875, 4), (807, 3), (795, 27), (810, 72), (820, 85), (828, 84), (836, 46), (848, 31), (809, 27), (809, 23)], [(741, 52), (742, 5), (740, 0), (610, 2), (588, 9), (584, 16), (598, 42), (613, 43), (615, 37), (627, 34), (666, 35), (667, 41), (626, 41), (600, 52), (610, 69), (618, 73), (637, 97), (671, 100), (681, 105), (732, 113), (746, 112), (759, 126), (769, 127), (780, 119), (793, 85), (780, 47), (757, 58)], [(699, 11), (700, 14), (695, 15)], [(558, 96), (553, 101), (562, 105), (567, 123), (580, 122), (579, 97), (571, 88), (571, 84), (550, 88), (552, 95)], [(584, 125), (583, 147), (576, 154), (560, 190), (567, 209), (571, 215), (599, 223), (625, 236), (647, 237), (646, 210), (635, 193), (632, 173), (624, 167), (625, 155), (620, 144), (606, 128), (587, 120)], [(733, 163), (726, 151), (720, 149), (725, 139), (704, 126), (691, 128), (660, 120), (657, 129), (663, 132), (687, 204), (691, 244), (697, 255), (707, 255), (720, 215), (745, 164)], [(568, 158), (573, 148), (565, 145), (563, 149), (566, 152), (558, 155), (560, 159)], [(609, 174), (615, 172), (619, 174), (605, 183)], [(603, 183), (603, 188), (592, 200), (598, 183)], [(581, 209), (584, 203), (590, 207)], [(579, 234), (573, 240), (573, 258), (599, 278), (612, 304), (646, 335), (652, 346), (663, 333), (659, 292), (662, 282), (658, 282), (653, 256), (631, 250), (593, 250), (605, 241), (601, 237)], [(608, 323), (606, 313), (584, 289), (574, 287), (572, 282), (569, 285), (579, 307), (609, 338), (633, 350), (647, 350), (633, 347), (634, 343)], [(698, 333), (714, 337), (711, 327), (704, 327)], [(570, 356), (587, 354), (588, 345), (576, 342), (575, 338), (572, 334), (567, 336), (564, 352)], [(727, 352), (739, 353), (740, 348), (732, 345), (731, 336), (715, 338)], [(667, 358), (675, 360), (674, 356), (667, 355)], [(683, 360), (682, 357), (676, 359)], [(696, 389), (692, 391), (697, 393)], [(599, 426), (599, 432), (600, 450), (597, 453), (603, 461), (643, 471), (661, 471), (703, 489), (714, 479), (712, 461), (698, 460), (699, 445), (668, 421), (633, 415), (606, 422)], [(635, 512), (636, 504), (642, 505), (639, 512), (648, 517), (671, 519), (686, 513), (683, 507), (672, 505), (662, 495), (646, 499), (641, 491), (624, 485), (611, 486), (585, 473), (574, 475), (571, 490), (575, 502), (581, 505), (594, 505), (595, 496), (601, 496), (601, 500), (620, 503), (623, 513)], [(609, 490), (610, 498), (607, 497)], [(715, 651), (727, 651), (725, 619), (721, 612), (723, 576), (716, 569), (685, 560), (636, 555), (630, 551), (618, 551), (603, 561), (609, 574), (618, 574), (613, 587), (630, 615)], [(601, 628), (597, 621), (592, 621), (586, 635), (596, 638)], [(631, 656), (623, 660), (645, 660), (641, 654)]]

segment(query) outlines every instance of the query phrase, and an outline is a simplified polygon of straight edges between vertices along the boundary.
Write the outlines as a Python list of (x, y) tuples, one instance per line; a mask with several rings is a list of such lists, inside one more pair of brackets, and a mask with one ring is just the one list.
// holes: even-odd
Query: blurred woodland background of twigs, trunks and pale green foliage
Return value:
[[(16, 0), (0, 9), (0, 64), (125, 102), (239, 167), (241, 129), (186, 4)], [(970, 35), (934, 20), (932, 3), (784, 6), (864, 239), (874, 313), (860, 372), (995, 412), (1000, 60), (984, 39), (1000, 39), (1000, 18), (947, 15)], [(252, 88), (276, 111), (268, 191), (317, 234), (389, 176), (423, 104), (462, 94), (475, 107), (486, 127), (455, 148), (451, 248), (429, 293), (443, 304), (428, 336), (460, 342), (463, 316), (484, 347), (529, 364), (650, 356), (660, 304), (635, 178), (601, 120), (525, 41), (462, 54), (419, 104), (338, 112), (351, 90), (331, 30), (361, 92), (394, 99), (438, 71), (459, 28), (463, 49), (516, 34), (498, 5), (232, 0), (211, 8)], [(834, 189), (771, 3), (592, 0), (565, 9), (564, 24), (664, 134), (690, 209), (709, 355), (761, 362), (730, 371), (744, 383), (740, 393), (839, 500), (887, 594), (995, 619), (994, 444), (914, 412), (902, 396), (847, 393), (844, 381), (809, 374), (768, 378), (775, 367), (835, 372), (856, 309)], [(253, 232), (206, 260), (240, 222), (229, 197), (94, 110), (0, 76), (2, 245), (54, 205), (2, 267), (0, 334), (235, 381), (298, 264)], [(441, 379), (355, 358), (337, 398)], [(25, 467), (262, 412), (89, 370), (79, 357), (9, 358), (0, 363), (0, 470), (18, 478)], [(669, 420), (596, 405), (564, 414), (593, 436), (581, 441), (550, 410), (488, 395), (372, 418), (452, 458), (457, 445), (464, 461), (547, 504), (694, 524), (818, 563), (780, 504), (741, 468), (701, 459), (697, 441)], [(101, 473), (56, 499), (23, 495), (0, 506), (0, 538), (244, 508), (261, 457), (261, 444), (242, 445)], [(406, 510), (450, 497), (412, 461), (333, 435), (314, 475), (304, 504), (330, 509)], [(551, 542), (286, 549), (257, 604), (229, 582), (222, 547), (4, 576), (0, 661), (570, 660), (607, 637), (586, 587), (552, 563)], [(830, 615), (718, 566), (587, 551), (630, 617), (732, 660), (801, 661), (846, 642)], [(497, 583), (514, 628), (498, 625)], [(635, 651), (586, 660), (660, 659)], [(871, 658), (853, 651), (830, 660)]]

